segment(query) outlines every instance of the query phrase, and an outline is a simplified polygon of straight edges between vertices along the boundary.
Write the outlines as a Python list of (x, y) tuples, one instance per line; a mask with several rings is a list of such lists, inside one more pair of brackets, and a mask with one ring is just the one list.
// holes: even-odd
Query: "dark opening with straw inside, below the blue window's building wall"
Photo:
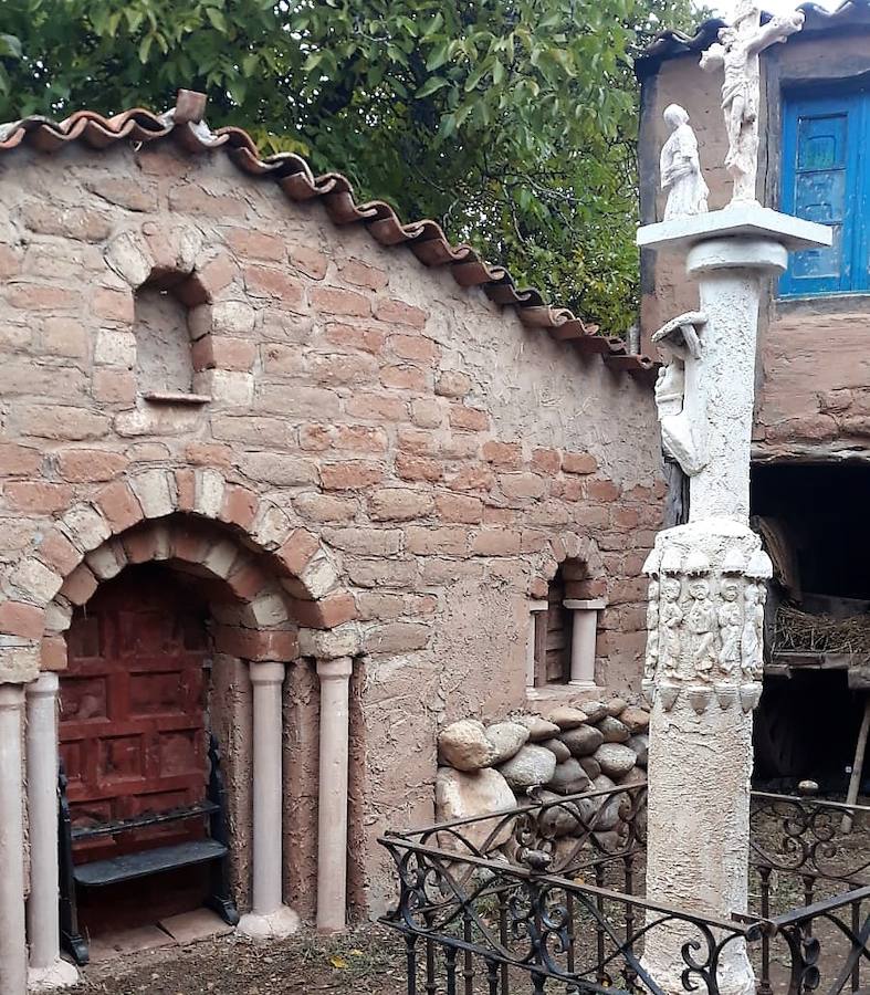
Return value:
[[(757, 786), (794, 790), (808, 779), (828, 796), (846, 793), (870, 695), (869, 501), (867, 463), (753, 467), (753, 523), (774, 561)], [(870, 788), (870, 764), (863, 779)]]

